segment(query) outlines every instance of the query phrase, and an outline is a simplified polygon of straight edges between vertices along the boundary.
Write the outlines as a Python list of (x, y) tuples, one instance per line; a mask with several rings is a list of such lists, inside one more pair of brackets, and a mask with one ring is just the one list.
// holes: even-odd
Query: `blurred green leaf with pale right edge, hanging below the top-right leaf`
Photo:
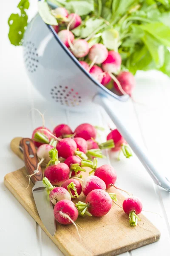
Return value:
[(150, 55), (155, 61), (156, 67), (160, 68), (164, 64), (164, 46), (160, 44), (152, 35), (145, 32), (144, 37), (142, 38), (145, 46), (147, 47)]

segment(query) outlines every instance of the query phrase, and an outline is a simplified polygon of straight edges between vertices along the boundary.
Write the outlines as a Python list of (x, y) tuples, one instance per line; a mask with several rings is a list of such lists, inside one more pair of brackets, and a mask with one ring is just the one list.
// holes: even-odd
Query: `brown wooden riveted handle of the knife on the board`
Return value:
[[(20, 147), (23, 149), (24, 162), (28, 175), (34, 174), (39, 161), (33, 140), (29, 138), (23, 138), (20, 141)], [(42, 179), (42, 170), (41, 166), (39, 166), (38, 172), (31, 176), (31, 180), (33, 183), (35, 183), (36, 181), (40, 181)]]

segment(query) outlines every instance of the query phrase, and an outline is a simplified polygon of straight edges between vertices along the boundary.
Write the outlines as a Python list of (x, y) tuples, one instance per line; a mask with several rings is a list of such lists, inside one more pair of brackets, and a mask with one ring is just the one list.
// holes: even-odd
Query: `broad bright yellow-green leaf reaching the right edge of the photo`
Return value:
[(170, 47), (170, 27), (165, 26), (163, 23), (154, 22), (145, 25), (140, 25), (140, 27), (153, 35), (157, 40), (167, 47)]

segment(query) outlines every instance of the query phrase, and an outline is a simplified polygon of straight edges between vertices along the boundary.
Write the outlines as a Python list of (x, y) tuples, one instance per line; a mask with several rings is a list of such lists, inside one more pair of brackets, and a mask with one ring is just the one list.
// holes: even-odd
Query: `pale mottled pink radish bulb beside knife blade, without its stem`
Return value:
[(51, 190), (50, 192), (50, 200), (52, 204), (57, 204), (58, 201), (67, 199), (67, 200), (71, 200), (71, 195), (68, 192), (67, 189), (63, 188), (63, 187), (55, 187), (53, 190)]

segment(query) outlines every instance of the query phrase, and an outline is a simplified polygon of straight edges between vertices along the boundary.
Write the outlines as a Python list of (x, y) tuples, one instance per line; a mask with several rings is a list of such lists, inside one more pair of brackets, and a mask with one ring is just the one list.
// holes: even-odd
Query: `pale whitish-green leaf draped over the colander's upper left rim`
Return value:
[(38, 1), (38, 12), (42, 20), (49, 25), (58, 25), (56, 18), (51, 14), (48, 3)]

